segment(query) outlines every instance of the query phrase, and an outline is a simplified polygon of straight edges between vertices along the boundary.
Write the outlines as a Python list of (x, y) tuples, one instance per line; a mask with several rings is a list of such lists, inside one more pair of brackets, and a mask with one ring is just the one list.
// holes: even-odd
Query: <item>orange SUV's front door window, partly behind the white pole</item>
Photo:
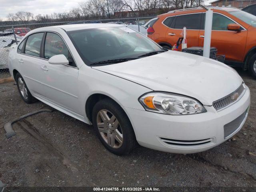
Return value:
[[(204, 14), (204, 21), (205, 21), (205, 14)], [(205, 25), (205, 22), (203, 22), (203, 24)], [(235, 24), (235, 22), (221, 14), (217, 14), (217, 13), (213, 14), (212, 30), (228, 31), (228, 24)]]

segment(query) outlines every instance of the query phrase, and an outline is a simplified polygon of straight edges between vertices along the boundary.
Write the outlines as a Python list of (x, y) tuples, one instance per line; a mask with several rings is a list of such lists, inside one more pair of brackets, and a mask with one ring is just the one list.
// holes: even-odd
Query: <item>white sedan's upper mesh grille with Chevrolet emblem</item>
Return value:
[[(240, 96), (242, 96), (244, 94), (244, 91), (245, 91), (244, 83), (242, 83), (237, 90), (235, 90), (234, 92), (232, 92), (231, 94), (229, 94), (228, 96), (226, 96), (220, 100), (214, 101), (212, 103), (212, 105), (218, 111), (218, 110), (228, 106), (229, 104), (235, 102), (236, 100), (239, 100)], [(235, 93), (238, 94), (238, 98), (236, 98), (236, 99), (233, 98), (233, 95)]]

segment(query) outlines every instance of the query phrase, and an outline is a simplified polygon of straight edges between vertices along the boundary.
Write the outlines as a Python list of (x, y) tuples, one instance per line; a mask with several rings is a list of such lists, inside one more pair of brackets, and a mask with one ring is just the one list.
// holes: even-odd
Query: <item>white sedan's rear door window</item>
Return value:
[(39, 57), (40, 56), (40, 46), (42, 42), (44, 33), (36, 33), (28, 36), (26, 42), (25, 54)]

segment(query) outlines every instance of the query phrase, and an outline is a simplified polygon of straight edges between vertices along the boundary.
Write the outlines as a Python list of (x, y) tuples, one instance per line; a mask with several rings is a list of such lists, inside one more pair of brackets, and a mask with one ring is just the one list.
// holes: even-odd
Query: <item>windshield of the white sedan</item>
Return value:
[(86, 65), (163, 51), (152, 40), (126, 26), (77, 30), (67, 34)]

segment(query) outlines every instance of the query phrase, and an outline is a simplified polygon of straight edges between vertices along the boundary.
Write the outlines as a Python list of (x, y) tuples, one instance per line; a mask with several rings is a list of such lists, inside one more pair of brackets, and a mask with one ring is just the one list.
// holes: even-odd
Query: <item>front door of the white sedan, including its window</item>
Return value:
[[(41, 70), (44, 74), (42, 83), (45, 91), (41, 96), (70, 114), (81, 114), (78, 104), (78, 68), (64, 40), (56, 33), (47, 32), (42, 47), (44, 59)], [(50, 57), (58, 54), (64, 54), (70, 61), (69, 65), (48, 63)]]

